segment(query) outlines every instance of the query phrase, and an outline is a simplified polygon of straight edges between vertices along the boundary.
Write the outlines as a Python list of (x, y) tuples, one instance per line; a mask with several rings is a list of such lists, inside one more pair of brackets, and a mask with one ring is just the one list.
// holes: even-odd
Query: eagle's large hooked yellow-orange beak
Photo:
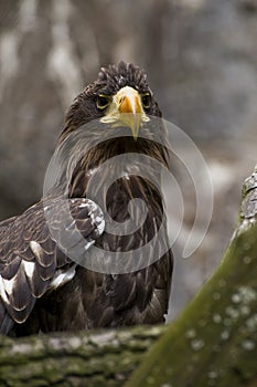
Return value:
[(142, 122), (149, 121), (147, 117), (139, 93), (125, 86), (114, 96), (113, 103), (103, 122), (114, 123), (113, 126), (125, 125), (130, 127), (133, 139), (137, 140)]

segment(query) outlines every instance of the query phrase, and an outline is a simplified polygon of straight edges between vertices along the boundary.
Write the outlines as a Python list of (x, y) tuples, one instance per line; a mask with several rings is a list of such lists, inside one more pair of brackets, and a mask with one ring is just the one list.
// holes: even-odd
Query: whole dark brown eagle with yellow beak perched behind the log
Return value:
[[(170, 153), (146, 72), (124, 61), (101, 67), (67, 111), (56, 149), (64, 167), (47, 194), (0, 223), (0, 333), (164, 322), (173, 259), (151, 161), (170, 168)], [(92, 265), (69, 253), (75, 233)]]

